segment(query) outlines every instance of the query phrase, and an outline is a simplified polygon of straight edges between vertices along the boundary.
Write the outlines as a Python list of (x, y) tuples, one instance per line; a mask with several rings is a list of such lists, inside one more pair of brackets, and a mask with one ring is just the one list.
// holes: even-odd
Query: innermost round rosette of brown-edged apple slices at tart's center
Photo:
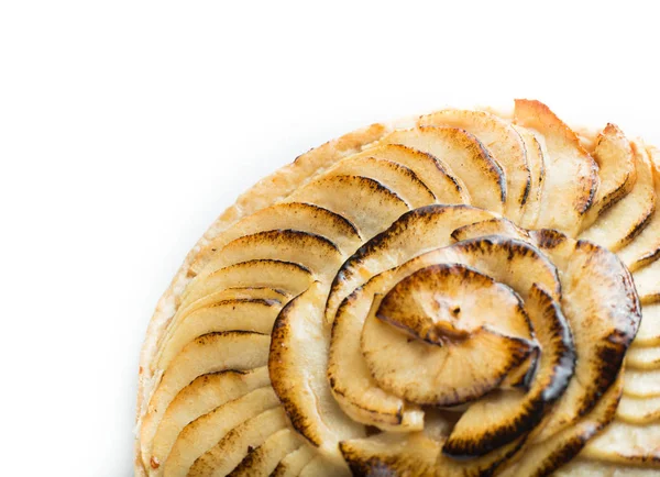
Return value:
[(519, 366), (529, 368), (538, 352), (532, 337), (514, 290), (464, 265), (439, 264), (375, 297), (361, 345), (383, 389), (447, 407), (479, 399)]

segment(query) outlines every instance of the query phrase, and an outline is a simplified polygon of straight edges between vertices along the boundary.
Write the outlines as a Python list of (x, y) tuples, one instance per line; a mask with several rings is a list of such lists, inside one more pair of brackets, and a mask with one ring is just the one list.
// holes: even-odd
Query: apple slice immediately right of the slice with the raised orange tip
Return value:
[(598, 164), (601, 184), (582, 226), (593, 224), (608, 208), (632, 190), (637, 180), (635, 152), (630, 141), (615, 124), (607, 124), (598, 134), (593, 157)]

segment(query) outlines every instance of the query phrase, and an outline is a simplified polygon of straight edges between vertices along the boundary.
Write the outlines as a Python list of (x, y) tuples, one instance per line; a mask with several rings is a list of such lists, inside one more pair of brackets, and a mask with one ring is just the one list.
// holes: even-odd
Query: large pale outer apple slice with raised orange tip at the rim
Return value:
[(593, 204), (598, 188), (598, 166), (582, 147), (578, 135), (546, 104), (516, 100), (514, 115), (516, 124), (539, 133), (548, 153), (543, 199), (536, 225), (574, 236)]

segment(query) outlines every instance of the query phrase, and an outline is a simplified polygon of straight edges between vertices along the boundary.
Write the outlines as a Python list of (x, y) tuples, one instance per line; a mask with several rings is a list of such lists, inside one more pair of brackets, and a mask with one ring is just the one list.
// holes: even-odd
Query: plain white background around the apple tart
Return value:
[(660, 144), (652, 3), (0, 3), (0, 474), (132, 474), (153, 307), (308, 148), (516, 97)]

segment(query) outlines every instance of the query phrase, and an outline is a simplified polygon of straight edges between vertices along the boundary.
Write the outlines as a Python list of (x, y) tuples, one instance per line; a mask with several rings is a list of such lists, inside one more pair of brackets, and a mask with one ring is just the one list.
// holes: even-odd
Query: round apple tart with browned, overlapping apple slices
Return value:
[(659, 198), (531, 100), (299, 156), (160, 301), (136, 473), (660, 475)]

